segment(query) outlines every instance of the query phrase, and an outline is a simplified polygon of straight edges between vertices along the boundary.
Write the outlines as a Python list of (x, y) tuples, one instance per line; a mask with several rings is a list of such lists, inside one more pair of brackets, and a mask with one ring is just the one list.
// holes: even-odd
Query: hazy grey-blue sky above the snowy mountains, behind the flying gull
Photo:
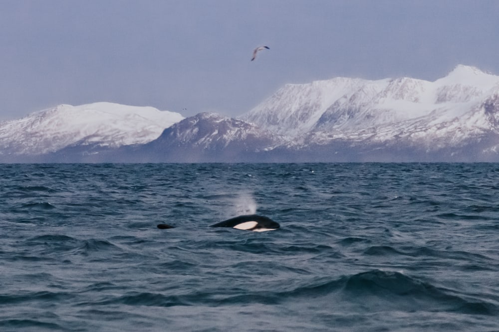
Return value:
[(0, 120), (100, 101), (234, 116), (285, 83), (499, 74), (498, 14), (495, 0), (0, 0)]

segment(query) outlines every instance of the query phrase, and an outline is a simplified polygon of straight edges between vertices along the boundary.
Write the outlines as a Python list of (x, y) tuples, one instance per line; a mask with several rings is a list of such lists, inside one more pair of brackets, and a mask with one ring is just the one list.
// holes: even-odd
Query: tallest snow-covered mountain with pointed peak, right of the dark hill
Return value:
[(341, 143), (363, 146), (364, 154), (369, 146), (402, 145), (490, 152), (499, 150), (498, 96), (499, 76), (459, 65), (434, 82), (336, 78), (286, 85), (241, 118), (290, 136), (284, 145), (294, 150)]

